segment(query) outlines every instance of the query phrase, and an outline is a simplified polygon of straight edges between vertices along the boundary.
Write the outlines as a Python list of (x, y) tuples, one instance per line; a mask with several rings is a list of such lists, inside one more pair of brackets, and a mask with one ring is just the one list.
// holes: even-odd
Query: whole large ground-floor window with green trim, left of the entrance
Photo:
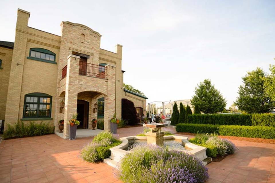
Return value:
[(43, 93), (25, 95), (23, 118), (50, 118), (52, 96)]

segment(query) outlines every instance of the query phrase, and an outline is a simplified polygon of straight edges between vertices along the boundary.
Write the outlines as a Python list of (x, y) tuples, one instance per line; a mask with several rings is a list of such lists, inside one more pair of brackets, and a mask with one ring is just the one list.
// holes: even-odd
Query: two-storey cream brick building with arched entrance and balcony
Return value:
[(122, 98), (146, 112), (147, 98), (123, 89), (122, 45), (107, 51), (100, 48), (101, 35), (86, 25), (63, 21), (59, 36), (28, 27), (29, 17), (18, 9), (15, 42), (0, 41), (4, 130), (17, 121), (43, 121), (58, 131), (58, 121), (67, 122), (76, 113), (80, 128), (91, 128), (93, 118), (103, 118), (109, 130), (113, 114), (121, 118)]

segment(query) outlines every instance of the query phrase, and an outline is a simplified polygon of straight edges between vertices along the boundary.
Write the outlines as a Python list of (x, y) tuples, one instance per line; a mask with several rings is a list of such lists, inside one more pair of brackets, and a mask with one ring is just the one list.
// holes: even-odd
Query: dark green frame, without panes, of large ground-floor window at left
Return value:
[[(37, 97), (37, 102), (26, 102), (27, 97)], [(40, 98), (50, 98), (50, 102), (48, 102), (48, 103), (40, 102)], [(26, 104), (36, 104), (37, 105), (36, 116), (25, 116), (25, 105)], [(39, 116), (40, 105), (50, 105), (49, 116)], [(26, 94), (24, 96), (23, 119), (25, 119), (25, 118), (51, 118), (51, 116), (52, 116), (52, 96), (50, 96), (48, 94), (44, 94), (44, 93), (30, 93), (30, 94)]]

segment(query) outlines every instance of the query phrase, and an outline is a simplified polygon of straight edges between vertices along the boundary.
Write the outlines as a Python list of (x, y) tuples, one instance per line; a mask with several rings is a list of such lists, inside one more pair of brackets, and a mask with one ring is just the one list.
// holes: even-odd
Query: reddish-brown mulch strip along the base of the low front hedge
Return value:
[[(177, 132), (176, 134), (195, 136), (194, 133), (189, 133), (189, 132)], [(247, 138), (247, 137), (234, 137), (234, 136), (219, 136), (219, 138), (226, 138), (229, 140), (241, 140), (241, 141), (247, 141), (247, 142), (258, 142), (258, 143), (265, 143), (265, 144), (275, 144), (274, 139), (265, 139), (265, 138)]]

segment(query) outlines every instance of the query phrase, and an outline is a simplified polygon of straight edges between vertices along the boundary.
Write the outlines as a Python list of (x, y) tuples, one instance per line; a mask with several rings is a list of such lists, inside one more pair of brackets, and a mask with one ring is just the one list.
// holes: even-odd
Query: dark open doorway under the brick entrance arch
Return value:
[(80, 125), (77, 128), (88, 128), (89, 121), (89, 102), (85, 100), (77, 100), (76, 112), (78, 113), (77, 120)]

